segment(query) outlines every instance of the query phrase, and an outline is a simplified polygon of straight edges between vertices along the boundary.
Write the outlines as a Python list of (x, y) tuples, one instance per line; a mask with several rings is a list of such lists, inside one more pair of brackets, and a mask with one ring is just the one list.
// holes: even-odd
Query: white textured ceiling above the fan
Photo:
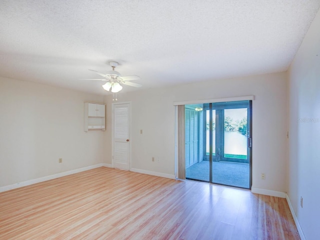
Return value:
[[(1, 0), (0, 76), (107, 94), (287, 70), (320, 0)], [(137, 88), (124, 86), (123, 91)], [(141, 89), (141, 88), (140, 88)]]

